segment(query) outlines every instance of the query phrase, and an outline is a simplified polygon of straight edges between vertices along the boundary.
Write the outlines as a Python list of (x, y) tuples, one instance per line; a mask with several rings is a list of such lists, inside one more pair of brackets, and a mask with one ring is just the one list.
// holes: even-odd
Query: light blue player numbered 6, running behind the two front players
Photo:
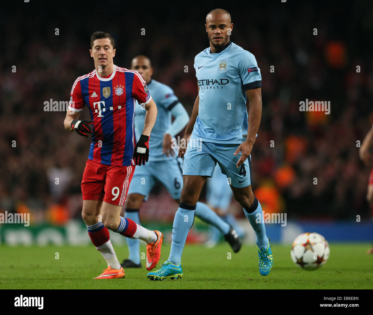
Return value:
[[(132, 70), (138, 71), (145, 80), (152, 98), (157, 104), (157, 120), (151, 131), (149, 139), (149, 161), (145, 166), (137, 167), (129, 185), (128, 198), (126, 200), (125, 215), (137, 224), (140, 224), (139, 210), (142, 202), (147, 200), (156, 180), (159, 180), (167, 188), (172, 198), (179, 204), (180, 193), (183, 186), (182, 159), (178, 158), (177, 150), (172, 145), (172, 139), (189, 121), (189, 115), (173, 90), (152, 78), (153, 68), (150, 59), (146, 56), (137, 56), (132, 59)], [(145, 111), (136, 103), (135, 106), (135, 132), (141, 134), (144, 128)], [(172, 122), (171, 117), (175, 117)], [(228, 187), (226, 187), (228, 188)], [(219, 233), (237, 252), (241, 248), (241, 241), (236, 237), (236, 232), (224, 222), (206, 204), (197, 202), (195, 215), (204, 222), (214, 225)], [(127, 239), (129, 257), (122, 263), (123, 268), (141, 268), (140, 242), (136, 239)], [(146, 268), (151, 262), (146, 261)]]

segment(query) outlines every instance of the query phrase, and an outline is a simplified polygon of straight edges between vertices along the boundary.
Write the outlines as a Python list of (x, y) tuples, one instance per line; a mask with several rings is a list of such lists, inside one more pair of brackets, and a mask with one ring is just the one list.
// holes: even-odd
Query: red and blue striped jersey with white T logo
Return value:
[(88, 159), (107, 165), (135, 165), (135, 100), (140, 104), (151, 100), (137, 71), (114, 65), (109, 77), (100, 77), (93, 70), (76, 79), (69, 109), (82, 111), (85, 104), (90, 110), (93, 133)]

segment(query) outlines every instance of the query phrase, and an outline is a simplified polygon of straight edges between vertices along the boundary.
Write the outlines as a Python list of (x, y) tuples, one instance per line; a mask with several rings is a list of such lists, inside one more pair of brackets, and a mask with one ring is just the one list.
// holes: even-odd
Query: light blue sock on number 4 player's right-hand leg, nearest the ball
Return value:
[[(251, 213), (249, 213), (247, 210)], [(250, 209), (247, 210), (244, 209), (244, 213), (255, 231), (255, 234), (257, 236), (256, 244), (258, 248), (261, 249), (262, 247), (264, 247), (265, 249), (267, 249), (268, 238), (266, 235), (266, 227), (264, 226), (263, 212), (256, 197), (254, 198), (253, 205), (250, 207)]]

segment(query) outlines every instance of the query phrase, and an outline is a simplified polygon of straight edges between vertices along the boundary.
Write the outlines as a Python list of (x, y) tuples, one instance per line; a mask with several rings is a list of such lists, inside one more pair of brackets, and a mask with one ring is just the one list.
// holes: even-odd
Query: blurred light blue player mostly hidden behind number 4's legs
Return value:
[[(232, 226), (239, 238), (245, 236), (244, 230), (238, 225), (232, 213), (228, 213), (229, 205), (232, 201), (232, 190), (228, 189), (227, 176), (222, 173), (217, 164), (212, 177), (206, 180), (206, 203), (215, 213), (226, 223)], [(196, 214), (197, 215), (197, 214)], [(209, 239), (205, 243), (206, 247), (212, 248), (220, 241), (221, 233), (215, 226), (209, 226)]]

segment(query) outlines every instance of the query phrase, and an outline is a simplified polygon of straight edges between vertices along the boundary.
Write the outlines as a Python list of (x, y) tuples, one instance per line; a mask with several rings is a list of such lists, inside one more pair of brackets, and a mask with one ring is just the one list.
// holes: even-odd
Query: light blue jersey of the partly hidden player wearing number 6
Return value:
[[(169, 158), (175, 158), (162, 154), (162, 141), (164, 132), (171, 126), (171, 109), (179, 103), (173, 90), (166, 84), (151, 79), (147, 84), (151, 97), (157, 105), (157, 119), (151, 130), (149, 138), (149, 161), (163, 161)], [(142, 130), (144, 130), (146, 110), (136, 101), (135, 105), (135, 135), (136, 141), (140, 139)], [(175, 135), (171, 135), (174, 137)]]

